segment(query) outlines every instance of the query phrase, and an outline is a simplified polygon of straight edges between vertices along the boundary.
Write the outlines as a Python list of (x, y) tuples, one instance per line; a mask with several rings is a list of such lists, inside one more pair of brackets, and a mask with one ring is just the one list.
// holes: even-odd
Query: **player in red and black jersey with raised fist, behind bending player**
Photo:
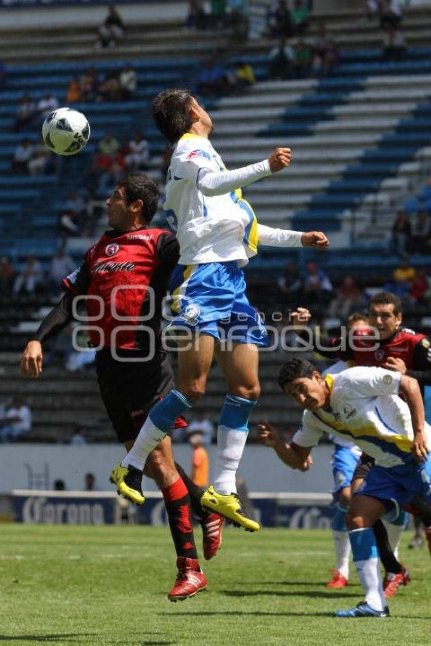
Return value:
[[(310, 318), (310, 312), (303, 307), (292, 314), (295, 326), (306, 326)], [(431, 341), (426, 335), (403, 327), (401, 299), (391, 292), (377, 293), (368, 302), (368, 320), (372, 329), (356, 331), (350, 339), (330, 339), (319, 335), (318, 343), (312, 340), (314, 351), (328, 359), (353, 360), (357, 366), (379, 366), (399, 371), (417, 379), (421, 390), (431, 385)], [(299, 336), (307, 341), (310, 339), (304, 333), (299, 333)], [(415, 514), (415, 538), (420, 538), (421, 529), (417, 524), (420, 518), (425, 525), (431, 554), (431, 509), (419, 498), (414, 498), (410, 507)]]

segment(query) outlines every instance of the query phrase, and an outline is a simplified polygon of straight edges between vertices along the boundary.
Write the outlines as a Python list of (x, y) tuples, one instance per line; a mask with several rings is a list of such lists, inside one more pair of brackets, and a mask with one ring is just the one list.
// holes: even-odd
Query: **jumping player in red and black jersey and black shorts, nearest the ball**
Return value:
[[(22, 373), (39, 377), (41, 344), (70, 322), (77, 297), (82, 297), (88, 317), (84, 325), (90, 331), (90, 344), (97, 349), (101, 397), (127, 451), (150, 408), (174, 388), (160, 324), (161, 302), (179, 258), (179, 245), (168, 231), (150, 225), (158, 198), (157, 185), (145, 174), (121, 178), (106, 200), (112, 229), (88, 250), (79, 269), (65, 278), (65, 294), (41, 322), (21, 359)], [(185, 425), (185, 421), (179, 419), (177, 424)], [(216, 554), (223, 519), (202, 510), (203, 491), (174, 463), (169, 436), (148, 457), (145, 473), (163, 493), (177, 552), (178, 576), (168, 598), (194, 596), (206, 587), (206, 578), (197, 559), (192, 507), (202, 519), (206, 558)], [(138, 475), (140, 482), (141, 472)]]

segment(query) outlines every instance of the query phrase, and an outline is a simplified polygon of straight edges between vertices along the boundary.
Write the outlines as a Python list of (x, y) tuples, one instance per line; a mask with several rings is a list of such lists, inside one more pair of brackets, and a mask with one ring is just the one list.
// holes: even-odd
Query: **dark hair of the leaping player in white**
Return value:
[(169, 143), (177, 143), (192, 127), (188, 110), (192, 95), (185, 88), (163, 90), (153, 99), (151, 109), (155, 125)]

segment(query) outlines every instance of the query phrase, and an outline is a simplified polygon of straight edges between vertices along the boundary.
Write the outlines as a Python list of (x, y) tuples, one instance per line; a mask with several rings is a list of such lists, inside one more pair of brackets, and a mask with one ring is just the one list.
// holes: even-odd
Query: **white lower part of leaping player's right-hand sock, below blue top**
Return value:
[(213, 485), (217, 494), (236, 494), (236, 472), (248, 433), (234, 429), (217, 431), (217, 458)]

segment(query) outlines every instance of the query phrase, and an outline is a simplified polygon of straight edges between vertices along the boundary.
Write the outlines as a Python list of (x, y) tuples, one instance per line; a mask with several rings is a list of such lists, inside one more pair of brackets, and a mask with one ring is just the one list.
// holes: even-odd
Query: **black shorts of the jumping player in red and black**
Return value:
[[(135, 355), (136, 356), (136, 355)], [(108, 348), (97, 352), (96, 373), (106, 413), (119, 442), (135, 440), (150, 409), (174, 388), (168, 357), (122, 362)]]

